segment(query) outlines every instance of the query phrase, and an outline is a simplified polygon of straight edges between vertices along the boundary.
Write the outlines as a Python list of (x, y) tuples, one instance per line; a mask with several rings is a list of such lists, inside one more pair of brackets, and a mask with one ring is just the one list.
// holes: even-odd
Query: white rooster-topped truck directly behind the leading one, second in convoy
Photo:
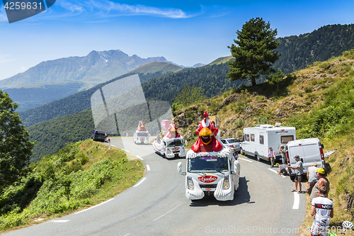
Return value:
[(164, 137), (157, 137), (154, 142), (152, 142), (152, 147), (154, 151), (166, 158), (173, 157), (185, 157), (185, 147), (183, 137), (177, 132), (176, 125), (173, 122), (164, 122), (164, 124), (169, 124), (164, 133)]

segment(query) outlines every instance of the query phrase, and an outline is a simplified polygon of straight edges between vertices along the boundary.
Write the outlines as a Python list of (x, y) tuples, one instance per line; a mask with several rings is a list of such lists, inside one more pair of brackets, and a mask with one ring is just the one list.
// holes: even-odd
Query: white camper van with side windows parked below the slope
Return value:
[(280, 123), (275, 125), (256, 125), (256, 127), (244, 128), (244, 138), (241, 142), (241, 154), (249, 154), (258, 161), (268, 158), (269, 147), (273, 147), (276, 158), (281, 159), (280, 145), (296, 140), (295, 127), (283, 127)]

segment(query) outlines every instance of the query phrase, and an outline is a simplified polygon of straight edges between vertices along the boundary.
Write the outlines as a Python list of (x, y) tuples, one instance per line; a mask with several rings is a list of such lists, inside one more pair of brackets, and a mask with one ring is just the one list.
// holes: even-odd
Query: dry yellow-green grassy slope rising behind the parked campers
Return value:
[[(280, 122), (295, 126), (298, 139), (319, 137), (325, 152), (337, 150), (326, 158), (331, 166), (329, 198), (335, 208), (331, 226), (353, 222), (354, 50), (290, 74), (278, 91), (268, 83), (243, 87), (175, 111), (180, 133), (189, 144), (196, 139), (195, 120), (202, 118), (203, 111), (219, 116), (221, 137), (241, 137), (244, 127)], [(312, 225), (309, 206), (307, 210), (300, 232)]]

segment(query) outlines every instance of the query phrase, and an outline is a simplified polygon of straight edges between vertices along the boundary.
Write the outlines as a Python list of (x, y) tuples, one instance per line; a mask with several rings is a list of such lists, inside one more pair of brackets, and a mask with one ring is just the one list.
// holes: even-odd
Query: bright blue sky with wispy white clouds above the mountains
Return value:
[(57, 0), (47, 11), (10, 24), (1, 1), (0, 79), (92, 50), (207, 64), (230, 55), (236, 30), (251, 18), (269, 21), (285, 37), (354, 23), (353, 12), (353, 0)]

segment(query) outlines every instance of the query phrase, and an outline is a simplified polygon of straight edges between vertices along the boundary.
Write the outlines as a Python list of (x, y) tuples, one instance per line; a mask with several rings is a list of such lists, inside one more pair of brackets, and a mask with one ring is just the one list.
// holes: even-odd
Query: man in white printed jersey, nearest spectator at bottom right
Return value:
[(319, 188), (319, 196), (312, 199), (312, 208), (310, 214), (314, 216), (314, 223), (311, 227), (312, 236), (327, 236), (329, 231), (329, 223), (333, 218), (333, 201), (326, 198), (328, 191), (326, 186)]

